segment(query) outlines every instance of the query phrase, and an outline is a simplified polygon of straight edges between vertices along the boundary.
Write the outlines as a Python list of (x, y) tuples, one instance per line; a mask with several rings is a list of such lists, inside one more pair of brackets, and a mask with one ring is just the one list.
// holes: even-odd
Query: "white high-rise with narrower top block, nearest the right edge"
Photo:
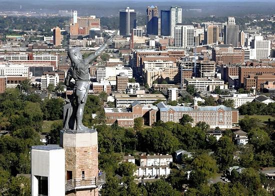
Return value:
[(251, 42), (251, 48), (255, 50), (256, 60), (267, 59), (270, 56), (270, 40), (263, 40), (262, 36), (255, 36)]

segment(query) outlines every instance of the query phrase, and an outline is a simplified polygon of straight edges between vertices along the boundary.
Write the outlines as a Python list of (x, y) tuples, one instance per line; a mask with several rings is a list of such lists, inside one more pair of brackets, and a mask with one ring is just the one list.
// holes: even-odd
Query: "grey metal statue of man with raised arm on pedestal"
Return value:
[[(109, 38), (99, 49), (85, 59), (82, 58), (78, 48), (70, 48), (68, 50), (68, 57), (71, 65), (67, 71), (65, 85), (73, 88), (73, 99), (71, 99), (70, 103), (65, 105), (63, 109), (64, 128), (76, 130), (76, 132), (83, 132), (88, 129), (82, 124), (84, 106), (90, 86), (88, 64), (102, 54), (108, 46), (112, 45), (113, 39), (116, 35), (117, 31), (115, 31), (111, 38)], [(75, 83), (72, 83), (71, 79), (74, 79)]]

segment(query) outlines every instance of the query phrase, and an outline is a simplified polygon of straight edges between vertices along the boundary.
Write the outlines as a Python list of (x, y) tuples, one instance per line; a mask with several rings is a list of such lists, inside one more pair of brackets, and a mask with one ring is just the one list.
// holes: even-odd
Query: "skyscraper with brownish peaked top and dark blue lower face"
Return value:
[(156, 6), (147, 7), (146, 29), (147, 35), (158, 35), (158, 10)]

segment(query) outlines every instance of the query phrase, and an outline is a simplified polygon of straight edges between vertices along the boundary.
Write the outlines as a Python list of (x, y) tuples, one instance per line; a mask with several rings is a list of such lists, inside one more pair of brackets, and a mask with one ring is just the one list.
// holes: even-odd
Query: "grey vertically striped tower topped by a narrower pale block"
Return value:
[(234, 17), (228, 17), (227, 25), (224, 25), (223, 42), (238, 47), (238, 25), (235, 24)]

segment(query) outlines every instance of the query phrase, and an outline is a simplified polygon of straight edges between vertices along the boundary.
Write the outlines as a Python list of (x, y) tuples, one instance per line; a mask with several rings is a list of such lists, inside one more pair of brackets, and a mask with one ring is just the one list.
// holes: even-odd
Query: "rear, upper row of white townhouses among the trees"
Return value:
[(140, 166), (165, 166), (169, 165), (171, 162), (173, 162), (172, 155), (166, 154), (166, 155), (141, 155), (140, 156)]

